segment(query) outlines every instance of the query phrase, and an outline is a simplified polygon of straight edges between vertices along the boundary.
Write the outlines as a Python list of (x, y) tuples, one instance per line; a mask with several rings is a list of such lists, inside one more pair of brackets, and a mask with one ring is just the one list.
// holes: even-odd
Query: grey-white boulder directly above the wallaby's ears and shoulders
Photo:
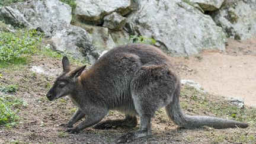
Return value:
[(91, 63), (94, 63), (100, 55), (96, 47), (92, 45), (87, 31), (74, 25), (56, 30), (51, 40), (55, 50), (69, 53), (79, 59), (85, 57)]

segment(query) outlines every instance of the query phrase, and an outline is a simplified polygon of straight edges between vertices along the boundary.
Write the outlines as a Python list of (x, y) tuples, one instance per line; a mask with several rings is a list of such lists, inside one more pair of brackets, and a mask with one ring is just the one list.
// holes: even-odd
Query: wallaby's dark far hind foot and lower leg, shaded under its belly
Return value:
[(117, 127), (136, 127), (137, 117), (126, 115), (125, 119), (120, 120), (105, 120), (94, 126), (95, 129), (111, 129)]

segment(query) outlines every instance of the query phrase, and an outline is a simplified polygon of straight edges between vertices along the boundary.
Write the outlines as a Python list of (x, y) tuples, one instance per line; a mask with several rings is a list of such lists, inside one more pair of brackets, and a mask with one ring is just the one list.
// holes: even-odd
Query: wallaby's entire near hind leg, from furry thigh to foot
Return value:
[(171, 103), (176, 80), (167, 66), (142, 66), (135, 73), (130, 89), (140, 116), (140, 129), (120, 136), (117, 143), (151, 135), (151, 117), (158, 108)]

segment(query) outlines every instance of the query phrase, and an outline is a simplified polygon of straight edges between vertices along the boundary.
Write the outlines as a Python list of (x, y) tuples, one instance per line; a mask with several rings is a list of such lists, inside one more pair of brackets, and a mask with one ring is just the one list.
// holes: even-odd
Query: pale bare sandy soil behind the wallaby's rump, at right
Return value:
[(256, 39), (228, 40), (225, 52), (207, 50), (173, 60), (181, 79), (192, 79), (212, 94), (243, 98), (245, 104), (256, 106)]

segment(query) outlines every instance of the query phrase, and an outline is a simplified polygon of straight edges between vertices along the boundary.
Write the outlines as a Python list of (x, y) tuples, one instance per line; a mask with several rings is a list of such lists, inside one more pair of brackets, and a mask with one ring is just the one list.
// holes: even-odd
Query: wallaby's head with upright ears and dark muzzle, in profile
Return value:
[(76, 89), (78, 77), (85, 69), (85, 66), (81, 66), (71, 70), (68, 57), (66, 56), (62, 59), (62, 66), (62, 74), (57, 77), (55, 84), (53, 84), (53, 87), (46, 95), (50, 101), (72, 94), (72, 92)]

